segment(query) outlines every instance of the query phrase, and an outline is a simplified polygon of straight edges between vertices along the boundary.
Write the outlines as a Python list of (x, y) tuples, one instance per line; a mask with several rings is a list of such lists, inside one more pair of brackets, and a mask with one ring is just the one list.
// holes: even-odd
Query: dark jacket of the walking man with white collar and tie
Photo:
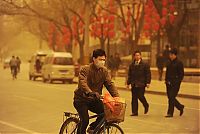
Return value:
[(150, 66), (142, 60), (139, 65), (135, 65), (135, 61), (133, 61), (129, 66), (127, 84), (131, 84), (132, 87), (146, 87), (150, 82)]

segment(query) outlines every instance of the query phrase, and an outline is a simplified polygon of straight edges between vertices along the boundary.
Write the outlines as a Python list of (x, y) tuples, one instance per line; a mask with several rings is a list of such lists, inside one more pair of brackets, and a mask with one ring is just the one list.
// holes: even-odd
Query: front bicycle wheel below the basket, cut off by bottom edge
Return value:
[(121, 127), (114, 123), (108, 123), (98, 131), (98, 134), (124, 134)]

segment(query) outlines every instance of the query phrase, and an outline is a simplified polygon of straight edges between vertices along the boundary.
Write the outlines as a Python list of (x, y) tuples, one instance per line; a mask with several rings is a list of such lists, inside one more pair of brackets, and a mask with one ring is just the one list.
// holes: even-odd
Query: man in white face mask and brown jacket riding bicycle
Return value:
[[(78, 134), (86, 134), (89, 124), (88, 110), (96, 114), (104, 112), (103, 103), (100, 101), (103, 85), (113, 97), (119, 97), (105, 65), (106, 54), (102, 49), (93, 51), (92, 63), (84, 66), (79, 73), (78, 88), (74, 92), (74, 107), (80, 116)], [(88, 132), (92, 132), (103, 116), (90, 124)]]

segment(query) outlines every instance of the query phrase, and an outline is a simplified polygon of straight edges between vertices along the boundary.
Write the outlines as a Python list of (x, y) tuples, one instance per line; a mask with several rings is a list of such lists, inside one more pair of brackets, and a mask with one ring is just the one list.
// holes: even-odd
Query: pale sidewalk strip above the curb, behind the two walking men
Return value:
[[(115, 86), (118, 89), (130, 90), (126, 88), (124, 77), (116, 77), (116, 79), (113, 81), (115, 82)], [(166, 87), (164, 81), (152, 80), (150, 88), (146, 89), (146, 93), (166, 95)], [(200, 99), (200, 84), (182, 82), (178, 96), (184, 98)]]

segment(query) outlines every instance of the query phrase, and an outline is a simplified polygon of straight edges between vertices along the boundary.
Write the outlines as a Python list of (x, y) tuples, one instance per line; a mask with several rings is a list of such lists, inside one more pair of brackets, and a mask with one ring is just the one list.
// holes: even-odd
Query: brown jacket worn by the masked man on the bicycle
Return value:
[(89, 92), (102, 94), (103, 85), (113, 97), (119, 96), (107, 68), (97, 68), (94, 63), (84, 66), (79, 73), (78, 88), (75, 90), (74, 100), (87, 101), (86, 94)]

